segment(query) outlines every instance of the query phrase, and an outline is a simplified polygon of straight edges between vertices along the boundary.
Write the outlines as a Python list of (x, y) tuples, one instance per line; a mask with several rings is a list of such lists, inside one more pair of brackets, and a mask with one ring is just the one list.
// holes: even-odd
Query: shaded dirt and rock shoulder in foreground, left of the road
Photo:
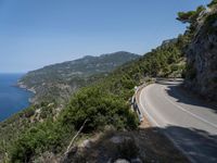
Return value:
[(87, 139), (68, 162), (107, 163), (117, 159), (143, 163), (188, 163), (188, 159), (162, 134), (143, 121), (137, 130), (107, 130), (98, 139)]

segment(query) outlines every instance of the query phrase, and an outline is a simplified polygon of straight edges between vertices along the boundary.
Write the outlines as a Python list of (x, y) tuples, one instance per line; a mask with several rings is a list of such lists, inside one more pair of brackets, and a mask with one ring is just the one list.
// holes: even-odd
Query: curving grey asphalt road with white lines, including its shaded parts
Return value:
[(158, 80), (139, 93), (141, 112), (196, 163), (217, 163), (217, 106), (179, 87)]

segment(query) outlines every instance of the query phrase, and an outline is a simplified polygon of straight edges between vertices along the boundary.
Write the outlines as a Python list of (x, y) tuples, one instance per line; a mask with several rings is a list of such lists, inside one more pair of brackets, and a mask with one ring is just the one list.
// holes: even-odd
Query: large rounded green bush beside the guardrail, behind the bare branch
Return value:
[(135, 128), (138, 125), (126, 101), (99, 86), (82, 88), (62, 114), (63, 125), (75, 126), (76, 129), (87, 118), (89, 121), (85, 129), (88, 131), (105, 125), (117, 128)]

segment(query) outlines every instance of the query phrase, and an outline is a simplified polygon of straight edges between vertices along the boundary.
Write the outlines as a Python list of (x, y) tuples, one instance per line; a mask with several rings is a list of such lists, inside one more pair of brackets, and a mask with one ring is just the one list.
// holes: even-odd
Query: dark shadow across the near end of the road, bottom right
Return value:
[(169, 126), (161, 129), (168, 133), (181, 149), (199, 163), (217, 162), (217, 136), (195, 128)]

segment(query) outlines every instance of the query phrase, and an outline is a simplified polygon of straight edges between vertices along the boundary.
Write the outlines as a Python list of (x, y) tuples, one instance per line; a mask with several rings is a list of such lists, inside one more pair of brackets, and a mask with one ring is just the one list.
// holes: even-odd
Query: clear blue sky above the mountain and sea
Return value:
[(144, 54), (183, 33), (178, 11), (209, 0), (0, 0), (0, 72), (125, 50)]

